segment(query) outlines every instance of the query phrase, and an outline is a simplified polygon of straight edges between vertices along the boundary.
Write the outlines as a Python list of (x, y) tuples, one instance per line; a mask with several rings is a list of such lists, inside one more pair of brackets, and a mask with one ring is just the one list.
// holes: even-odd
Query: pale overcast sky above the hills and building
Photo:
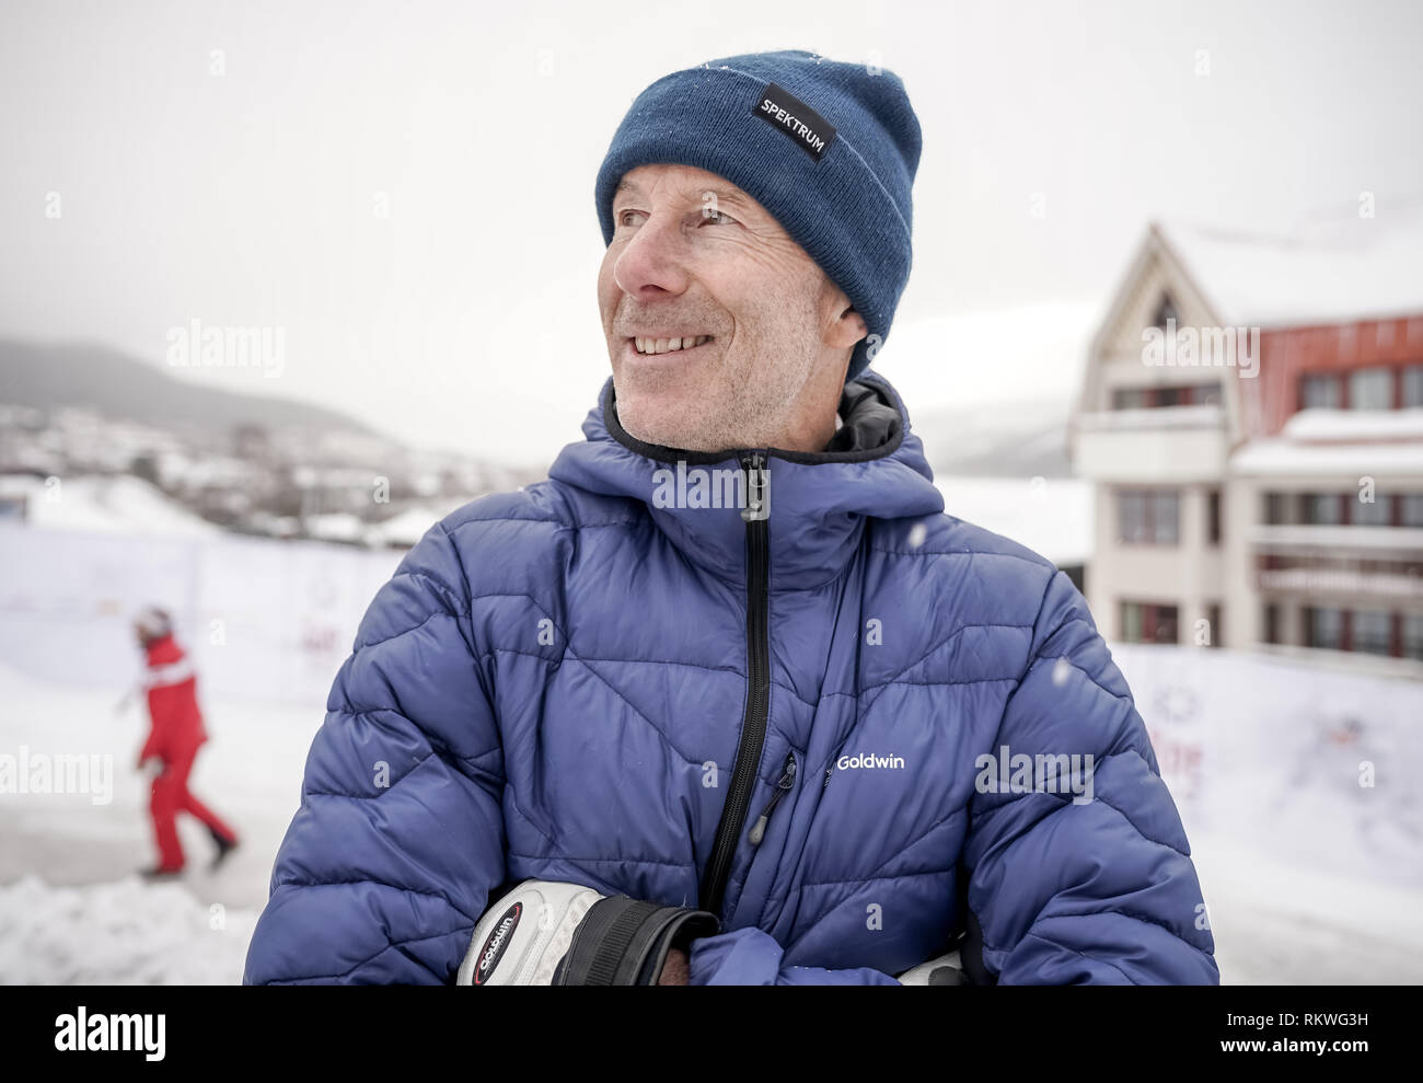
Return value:
[[(1023, 322), (1090, 322), (1151, 218), (1284, 231), (1372, 191), (1386, 223), (1423, 192), (1409, 1), (6, 0), (0, 334), (164, 364), (194, 319), (282, 327), (277, 379), (179, 374), (546, 461), (609, 371), (615, 127), (655, 78), (763, 48), (905, 81), (925, 148), (896, 327), (1012, 309), (1005, 337), (1050, 342)], [(1066, 390), (992, 337), (901, 364), (935, 406)]]

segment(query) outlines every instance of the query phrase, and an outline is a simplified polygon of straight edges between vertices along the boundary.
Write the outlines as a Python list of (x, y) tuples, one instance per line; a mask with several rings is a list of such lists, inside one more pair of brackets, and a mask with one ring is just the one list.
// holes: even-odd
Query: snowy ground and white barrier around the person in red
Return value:
[[(201, 689), (201, 685), (199, 685)], [(300, 804), (320, 703), (216, 703), (191, 787), (240, 833), (216, 874), (192, 818), (178, 831), (191, 872), (147, 884), (155, 860), (148, 784), (134, 770), (147, 733), (115, 694), (33, 680), (0, 666), (0, 754), (111, 757), (111, 793), (0, 793), (0, 982), (231, 983), (268, 895), (272, 860)], [(98, 773), (102, 776), (102, 771)]]

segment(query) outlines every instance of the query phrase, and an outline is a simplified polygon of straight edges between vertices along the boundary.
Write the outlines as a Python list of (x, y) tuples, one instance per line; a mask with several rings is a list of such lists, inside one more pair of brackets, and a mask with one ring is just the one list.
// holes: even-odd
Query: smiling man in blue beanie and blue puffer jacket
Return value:
[[(894, 74), (807, 53), (633, 102), (596, 181), (612, 377), (586, 440), (377, 595), (245, 981), (450, 982), (468, 952), (480, 983), (525, 881), (694, 918), (638, 956), (647, 982), (894, 985), (956, 944), (980, 983), (1218, 981), (1080, 593), (943, 512), (867, 371), (919, 144)], [(628, 969), (616, 921), (572, 936)]]

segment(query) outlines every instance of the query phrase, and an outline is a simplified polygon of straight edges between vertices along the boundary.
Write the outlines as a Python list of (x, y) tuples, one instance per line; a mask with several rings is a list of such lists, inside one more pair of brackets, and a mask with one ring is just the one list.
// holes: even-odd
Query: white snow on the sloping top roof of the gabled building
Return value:
[(1423, 315), (1423, 208), (1259, 236), (1184, 222), (1157, 232), (1225, 323), (1301, 327)]

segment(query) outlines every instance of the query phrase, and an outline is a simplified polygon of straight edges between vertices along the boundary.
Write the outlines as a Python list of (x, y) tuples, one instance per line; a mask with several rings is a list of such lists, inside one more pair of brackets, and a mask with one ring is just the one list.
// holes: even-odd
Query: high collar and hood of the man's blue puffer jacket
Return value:
[(760, 453), (767, 471), (771, 589), (805, 589), (845, 569), (867, 519), (943, 511), (924, 445), (909, 431), (909, 414), (888, 380), (865, 371), (848, 383), (840, 416), (840, 430), (820, 453), (682, 451), (626, 433), (608, 377), (598, 406), (583, 421), (586, 440), (565, 447), (549, 477), (589, 492), (639, 501), (687, 561), (744, 585), (741, 463)]

